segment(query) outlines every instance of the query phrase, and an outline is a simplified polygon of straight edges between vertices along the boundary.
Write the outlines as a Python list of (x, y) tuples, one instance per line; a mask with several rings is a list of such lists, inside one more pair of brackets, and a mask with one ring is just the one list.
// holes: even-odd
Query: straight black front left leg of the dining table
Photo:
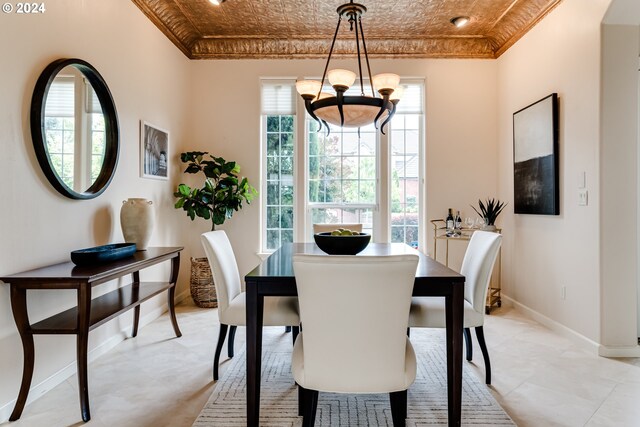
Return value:
[(247, 426), (260, 425), (260, 370), (262, 369), (262, 314), (264, 296), (256, 283), (247, 283)]

